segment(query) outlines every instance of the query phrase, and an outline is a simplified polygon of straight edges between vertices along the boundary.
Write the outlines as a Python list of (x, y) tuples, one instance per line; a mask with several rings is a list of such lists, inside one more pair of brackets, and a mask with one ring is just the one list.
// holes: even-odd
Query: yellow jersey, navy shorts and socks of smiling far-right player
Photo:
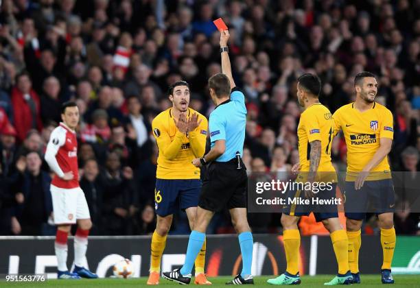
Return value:
[[(333, 115), (334, 134), (342, 130), (347, 145), (347, 175), (345, 182), (345, 215), (363, 220), (370, 202), (376, 214), (392, 213), (395, 193), (388, 158), (385, 157), (366, 178), (362, 188), (355, 190), (358, 172), (366, 166), (380, 147), (380, 139), (393, 139), (393, 115), (386, 107), (373, 102), (372, 108), (360, 112), (354, 103), (339, 108)], [(359, 272), (358, 256), (362, 243), (361, 231), (347, 231), (351, 273)], [(384, 254), (382, 269), (390, 269), (395, 249), (395, 229), (381, 229)]]

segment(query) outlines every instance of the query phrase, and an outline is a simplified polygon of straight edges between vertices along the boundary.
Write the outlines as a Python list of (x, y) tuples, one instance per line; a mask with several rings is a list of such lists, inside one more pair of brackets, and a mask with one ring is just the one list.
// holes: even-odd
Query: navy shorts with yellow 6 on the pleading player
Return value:
[(189, 207), (197, 207), (200, 191), (200, 179), (156, 179), (156, 188), (154, 189), (156, 214), (164, 217), (174, 214), (178, 207), (183, 211)]

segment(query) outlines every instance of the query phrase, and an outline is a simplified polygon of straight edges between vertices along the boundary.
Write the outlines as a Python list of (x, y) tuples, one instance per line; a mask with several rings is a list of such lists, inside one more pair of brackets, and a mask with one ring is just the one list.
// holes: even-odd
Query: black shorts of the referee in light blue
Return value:
[(241, 169), (237, 167), (236, 158), (228, 162), (210, 163), (202, 182), (198, 206), (213, 212), (221, 211), (224, 207), (246, 208), (248, 176), (242, 160)]

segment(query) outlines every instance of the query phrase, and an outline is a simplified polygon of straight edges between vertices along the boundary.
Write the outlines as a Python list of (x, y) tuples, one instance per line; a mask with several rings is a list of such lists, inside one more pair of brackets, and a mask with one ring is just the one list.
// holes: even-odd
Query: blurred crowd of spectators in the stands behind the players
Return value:
[[(172, 106), (166, 91), (178, 80), (190, 84), (191, 108), (207, 117), (214, 108), (207, 80), (221, 72), (218, 17), (229, 25), (233, 77), (246, 95), (248, 171), (290, 171), (299, 160), (299, 75), (321, 78), (320, 101), (334, 113), (352, 101), (361, 71), (377, 75), (376, 101), (393, 112), (392, 169), (419, 171), (420, 1), (0, 2), (1, 235), (54, 235), (43, 154), (70, 99), (82, 115), (80, 185), (92, 234), (153, 232), (158, 151), (150, 123)], [(346, 152), (336, 137), (338, 171)], [(249, 221), (256, 232), (281, 229), (280, 214)], [(397, 234), (419, 234), (418, 224), (419, 213), (395, 213)], [(228, 214), (209, 230), (232, 232)], [(189, 233), (184, 213), (172, 232)], [(374, 221), (364, 232), (375, 232)]]

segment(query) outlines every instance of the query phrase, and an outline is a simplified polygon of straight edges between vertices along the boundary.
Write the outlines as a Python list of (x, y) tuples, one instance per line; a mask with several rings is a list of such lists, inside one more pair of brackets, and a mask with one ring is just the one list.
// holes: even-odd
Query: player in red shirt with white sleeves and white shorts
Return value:
[[(91, 215), (84, 193), (79, 186), (78, 142), (75, 128), (79, 123), (75, 102), (62, 104), (62, 123), (51, 132), (45, 160), (56, 174), (51, 181), (54, 223), (57, 226), (55, 250), (58, 279), (97, 278), (86, 269), (87, 237), (92, 227)], [(67, 235), (71, 225), (78, 224), (74, 237), (73, 272), (67, 269)]]

